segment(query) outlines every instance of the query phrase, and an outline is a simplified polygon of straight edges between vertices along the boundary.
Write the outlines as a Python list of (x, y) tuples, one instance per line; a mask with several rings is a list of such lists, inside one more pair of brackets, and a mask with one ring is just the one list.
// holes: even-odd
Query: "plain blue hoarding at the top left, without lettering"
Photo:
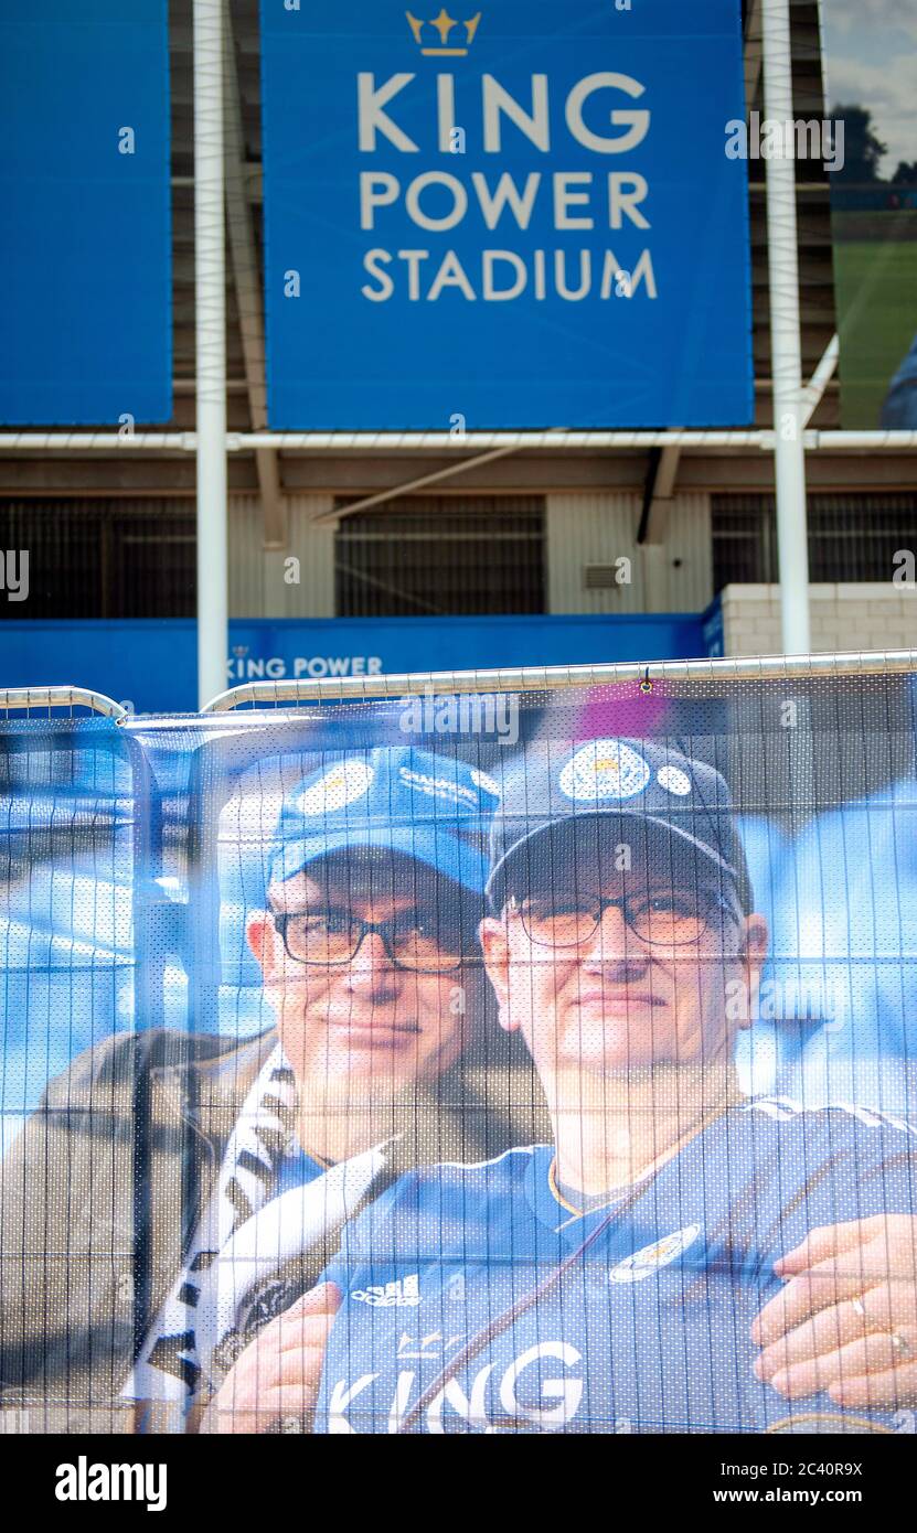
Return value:
[(0, 120), (0, 420), (167, 422), (166, 0), (6, 0)]

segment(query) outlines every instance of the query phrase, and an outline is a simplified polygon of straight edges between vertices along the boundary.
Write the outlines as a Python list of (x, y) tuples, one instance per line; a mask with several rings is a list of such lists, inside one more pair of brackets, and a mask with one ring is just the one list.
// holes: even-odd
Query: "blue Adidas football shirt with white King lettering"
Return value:
[(915, 1133), (750, 1101), (584, 1214), (555, 1191), (546, 1145), (405, 1176), (325, 1274), (345, 1297), (314, 1430), (894, 1430), (888, 1412), (777, 1395), (753, 1374), (750, 1328), (782, 1288), (773, 1263), (810, 1229), (914, 1213)]

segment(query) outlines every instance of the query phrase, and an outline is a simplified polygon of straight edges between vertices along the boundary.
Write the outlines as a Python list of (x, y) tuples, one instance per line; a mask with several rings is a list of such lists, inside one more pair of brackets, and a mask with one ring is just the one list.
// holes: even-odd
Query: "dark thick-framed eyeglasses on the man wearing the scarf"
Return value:
[(363, 921), (345, 904), (320, 911), (274, 911), (273, 921), (294, 963), (350, 963), (370, 932), (379, 932), (397, 969), (449, 973), (463, 958), (458, 912), (412, 906), (388, 921)]

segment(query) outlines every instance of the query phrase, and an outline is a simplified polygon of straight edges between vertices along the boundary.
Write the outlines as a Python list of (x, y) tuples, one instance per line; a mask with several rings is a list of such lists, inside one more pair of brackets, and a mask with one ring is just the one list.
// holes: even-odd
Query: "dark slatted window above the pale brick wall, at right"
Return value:
[[(771, 584), (777, 575), (773, 495), (715, 495), (713, 584)], [(897, 549), (917, 547), (917, 495), (810, 495), (813, 584), (886, 581)]]

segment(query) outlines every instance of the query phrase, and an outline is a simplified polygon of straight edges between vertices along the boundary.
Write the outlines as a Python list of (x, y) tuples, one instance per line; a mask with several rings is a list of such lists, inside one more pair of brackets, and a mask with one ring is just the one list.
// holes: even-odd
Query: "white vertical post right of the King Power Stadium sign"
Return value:
[(785, 655), (811, 647), (808, 613), (808, 537), (805, 518), (805, 442), (802, 422), (802, 342), (799, 254), (796, 248), (796, 161), (790, 0), (764, 0), (764, 110), (782, 126), (782, 153), (767, 159), (767, 259), (774, 409), (774, 480), (781, 636)]

